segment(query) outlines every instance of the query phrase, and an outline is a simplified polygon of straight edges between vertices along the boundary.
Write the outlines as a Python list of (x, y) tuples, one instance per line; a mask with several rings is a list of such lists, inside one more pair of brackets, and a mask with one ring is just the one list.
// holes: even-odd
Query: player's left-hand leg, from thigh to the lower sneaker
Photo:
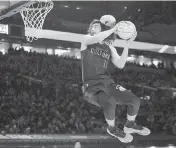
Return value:
[(129, 143), (133, 140), (132, 135), (126, 134), (124, 131), (118, 129), (115, 126), (116, 100), (113, 97), (110, 97), (105, 92), (100, 91), (95, 95), (87, 93), (86, 100), (89, 103), (99, 106), (103, 109), (104, 117), (108, 124), (108, 134), (118, 138), (121, 142), (124, 143)]

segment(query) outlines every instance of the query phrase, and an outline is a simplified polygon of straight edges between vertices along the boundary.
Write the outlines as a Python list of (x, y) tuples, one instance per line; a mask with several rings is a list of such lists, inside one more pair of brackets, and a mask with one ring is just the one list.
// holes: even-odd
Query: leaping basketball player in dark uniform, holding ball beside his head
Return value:
[[(113, 16), (104, 15), (89, 26), (88, 34), (81, 44), (82, 90), (86, 101), (103, 109), (108, 134), (128, 143), (133, 140), (132, 133), (149, 135), (150, 130), (135, 123), (140, 98), (116, 84), (109, 75), (110, 60), (117, 68), (122, 69), (128, 57), (129, 45), (137, 36), (135, 32), (132, 38), (126, 41), (123, 53), (119, 56), (112, 46), (118, 27), (115, 23)], [(116, 104), (127, 105), (127, 122), (124, 130), (115, 126)]]

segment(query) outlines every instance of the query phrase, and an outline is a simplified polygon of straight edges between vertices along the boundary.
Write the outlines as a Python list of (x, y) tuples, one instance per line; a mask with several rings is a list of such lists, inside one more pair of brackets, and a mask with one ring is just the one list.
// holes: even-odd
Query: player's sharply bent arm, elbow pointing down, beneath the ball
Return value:
[(137, 32), (135, 32), (134, 35), (132, 36), (132, 38), (126, 42), (126, 45), (124, 47), (124, 50), (123, 50), (123, 53), (121, 56), (118, 55), (116, 49), (113, 46), (110, 47), (111, 48), (111, 56), (112, 56), (111, 60), (112, 60), (112, 63), (117, 68), (122, 69), (125, 66), (127, 58), (128, 58), (129, 46), (135, 40), (136, 36), (137, 36)]

